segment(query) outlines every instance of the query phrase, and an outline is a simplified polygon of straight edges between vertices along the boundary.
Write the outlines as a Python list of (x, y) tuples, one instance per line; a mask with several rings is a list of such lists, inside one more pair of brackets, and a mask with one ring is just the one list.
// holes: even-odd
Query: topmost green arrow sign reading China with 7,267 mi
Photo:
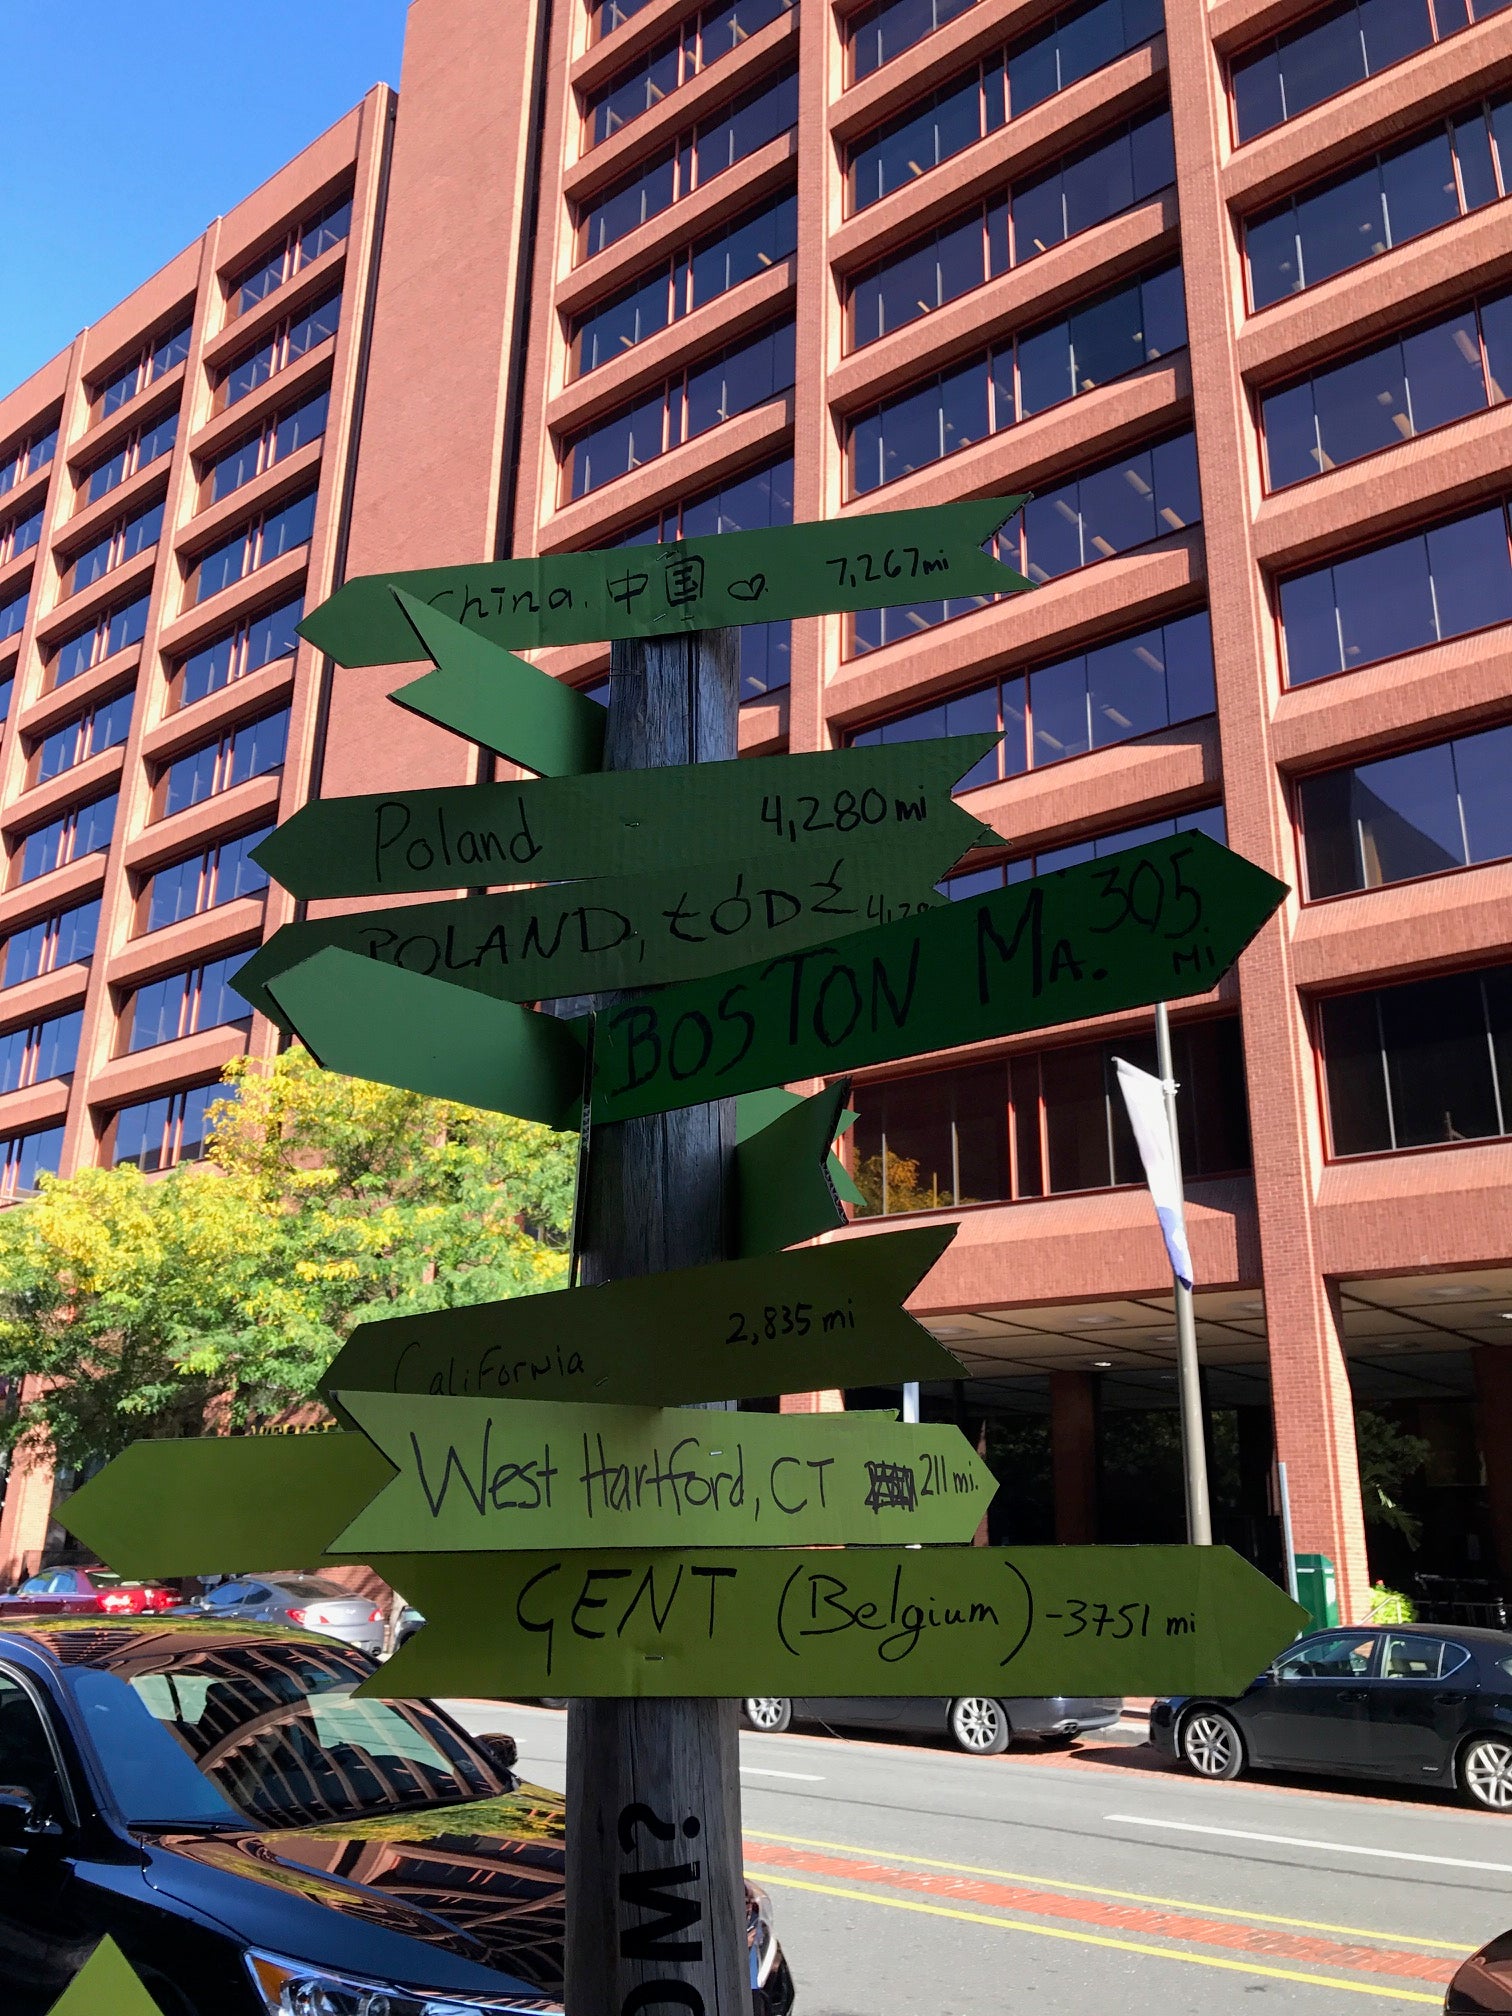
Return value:
[(300, 633), (341, 665), (397, 665), (415, 639), (391, 589), (514, 651), (887, 609), (1032, 587), (982, 548), (1022, 496), (867, 512), (665, 546), (550, 552), (403, 575), (363, 575), (310, 611)]

